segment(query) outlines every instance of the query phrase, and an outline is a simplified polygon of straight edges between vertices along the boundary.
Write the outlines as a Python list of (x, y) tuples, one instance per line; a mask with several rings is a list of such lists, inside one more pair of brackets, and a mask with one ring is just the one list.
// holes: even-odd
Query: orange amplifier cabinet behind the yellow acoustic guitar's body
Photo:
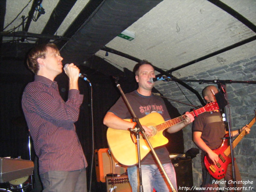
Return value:
[(97, 182), (105, 182), (106, 174), (121, 175), (126, 172), (126, 167), (120, 166), (108, 150), (109, 148), (100, 148), (94, 151)]

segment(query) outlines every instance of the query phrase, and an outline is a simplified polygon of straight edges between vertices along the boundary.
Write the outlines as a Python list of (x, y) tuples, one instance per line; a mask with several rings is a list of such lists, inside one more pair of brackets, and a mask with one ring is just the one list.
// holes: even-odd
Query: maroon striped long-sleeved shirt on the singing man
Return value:
[(78, 120), (83, 95), (70, 90), (65, 102), (56, 81), (35, 76), (23, 93), (22, 108), (39, 158), (39, 173), (72, 171), (87, 167), (74, 122)]

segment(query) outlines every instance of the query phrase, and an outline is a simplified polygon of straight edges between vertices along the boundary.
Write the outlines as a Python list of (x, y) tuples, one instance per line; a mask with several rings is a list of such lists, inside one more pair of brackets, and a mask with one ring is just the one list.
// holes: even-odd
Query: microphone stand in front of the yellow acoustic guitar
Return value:
[(162, 170), (162, 172), (163, 172), (163, 174), (164, 174), (168, 184), (170, 185), (170, 188), (172, 188), (173, 192), (176, 192), (176, 189), (174, 188), (173, 184), (170, 182), (170, 180), (169, 180), (169, 178), (168, 178), (168, 176), (167, 176), (167, 174), (166, 174), (166, 172), (165, 172), (165, 170), (164, 170), (164, 168), (163, 168), (159, 158), (157, 157), (157, 154), (156, 154), (153, 146), (151, 145), (150, 141), (148, 140), (148, 138), (147, 138), (147, 136), (145, 134), (145, 131), (144, 131), (142, 125), (140, 124), (140, 121), (139, 121), (138, 117), (136, 117), (136, 115), (135, 115), (135, 113), (134, 113), (134, 111), (132, 109), (132, 106), (130, 105), (129, 101), (127, 100), (125, 94), (123, 93), (122, 88), (121, 88), (120, 84), (118, 83), (119, 78), (118, 77), (114, 77), (114, 79), (115, 79), (115, 83), (117, 85), (117, 88), (119, 89), (119, 91), (120, 91), (120, 93), (121, 93), (121, 95), (122, 95), (122, 97), (124, 99), (124, 102), (126, 103), (128, 109), (132, 113), (133, 122), (136, 122), (136, 127), (138, 127), (138, 129), (136, 127), (135, 127), (135, 129), (131, 129), (130, 128), (130, 131), (136, 133), (137, 153), (138, 153), (138, 168), (139, 168), (139, 191), (143, 192), (142, 174), (141, 174), (141, 159), (140, 159), (140, 140), (139, 140), (140, 139), (139, 133), (141, 133), (142, 136), (144, 137), (144, 139), (146, 140), (148, 146), (150, 146), (151, 151), (152, 151), (154, 157), (156, 158), (158, 165), (160, 166), (160, 168), (161, 168), (161, 170)]

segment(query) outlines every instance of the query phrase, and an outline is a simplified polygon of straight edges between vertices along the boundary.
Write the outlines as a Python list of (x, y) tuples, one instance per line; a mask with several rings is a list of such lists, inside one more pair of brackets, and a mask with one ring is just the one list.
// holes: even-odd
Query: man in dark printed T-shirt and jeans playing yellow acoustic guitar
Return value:
[[(139, 84), (139, 88), (131, 93), (126, 94), (127, 100), (130, 102), (134, 113), (138, 118), (143, 118), (148, 114), (156, 112), (161, 114), (165, 121), (170, 119), (166, 106), (162, 98), (157, 97), (151, 93), (152, 88), (154, 87), (154, 82), (150, 82), (151, 77), (155, 77), (155, 70), (152, 64), (146, 60), (143, 60), (140, 63), (137, 63), (134, 67), (134, 73), (136, 81)], [(103, 123), (112, 129), (116, 130), (129, 130), (135, 126), (134, 122), (125, 121), (123, 119), (131, 119), (132, 115), (127, 109), (125, 103), (123, 102), (122, 97), (112, 106), (110, 111), (106, 113)], [(175, 124), (167, 129), (168, 133), (175, 133), (183, 129), (186, 125), (191, 123), (194, 120), (194, 116), (185, 114), (185, 118), (182, 122)], [(150, 128), (142, 124), (145, 134), (147, 136), (153, 136), (153, 132)], [(130, 136), (129, 136), (130, 137)], [(135, 145), (134, 145), (135, 147)], [(124, 149), (122, 149), (124, 150)], [(128, 148), (127, 150), (130, 150)], [(163, 168), (169, 177), (172, 185), (177, 191), (176, 184), (176, 174), (175, 169), (170, 161), (169, 153), (165, 146), (158, 147), (155, 150), (158, 158), (163, 164)], [(120, 154), (125, 153), (125, 151), (120, 151)], [(136, 156), (136, 153), (134, 154)], [(127, 157), (129, 158), (129, 157)], [(157, 191), (168, 192), (170, 187), (163, 176), (159, 166), (156, 163), (154, 156), (151, 153), (148, 153), (147, 156), (141, 161), (141, 172), (142, 172), (142, 185), (143, 189), (146, 192), (152, 192), (153, 188)], [(132, 186), (133, 192), (138, 191), (138, 174), (137, 166), (131, 166), (127, 168), (128, 177), (130, 184)]]

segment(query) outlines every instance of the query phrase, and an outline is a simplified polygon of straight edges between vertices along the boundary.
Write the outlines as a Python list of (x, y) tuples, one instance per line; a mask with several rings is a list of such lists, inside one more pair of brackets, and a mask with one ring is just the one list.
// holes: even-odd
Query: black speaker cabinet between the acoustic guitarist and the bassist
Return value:
[[(177, 187), (193, 187), (192, 160), (187, 158), (171, 159), (177, 179)], [(179, 190), (179, 191), (185, 191)]]

